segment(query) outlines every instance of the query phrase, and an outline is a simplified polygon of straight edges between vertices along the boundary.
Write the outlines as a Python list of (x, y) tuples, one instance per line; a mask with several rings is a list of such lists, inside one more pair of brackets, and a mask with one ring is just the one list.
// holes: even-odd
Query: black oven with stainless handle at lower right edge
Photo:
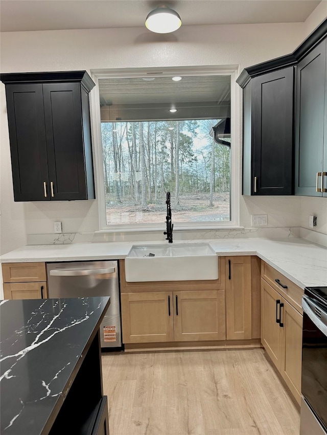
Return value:
[(302, 401), (300, 435), (327, 434), (327, 287), (302, 297)]

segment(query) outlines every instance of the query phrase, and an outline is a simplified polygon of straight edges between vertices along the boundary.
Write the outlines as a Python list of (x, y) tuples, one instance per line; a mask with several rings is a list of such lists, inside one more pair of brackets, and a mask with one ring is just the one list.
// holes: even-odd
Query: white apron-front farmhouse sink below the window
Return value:
[(127, 282), (217, 279), (218, 258), (208, 243), (134, 245), (125, 259)]

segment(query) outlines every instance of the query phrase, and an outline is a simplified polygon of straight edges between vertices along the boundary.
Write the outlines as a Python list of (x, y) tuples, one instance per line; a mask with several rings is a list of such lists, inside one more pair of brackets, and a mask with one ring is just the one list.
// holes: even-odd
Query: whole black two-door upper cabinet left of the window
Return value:
[(94, 199), (85, 71), (1, 74), (15, 201)]

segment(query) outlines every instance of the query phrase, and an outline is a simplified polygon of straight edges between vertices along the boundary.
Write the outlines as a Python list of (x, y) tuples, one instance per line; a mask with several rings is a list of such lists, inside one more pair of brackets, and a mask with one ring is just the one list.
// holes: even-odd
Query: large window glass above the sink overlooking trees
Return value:
[(158, 75), (99, 78), (103, 229), (235, 224), (231, 75)]

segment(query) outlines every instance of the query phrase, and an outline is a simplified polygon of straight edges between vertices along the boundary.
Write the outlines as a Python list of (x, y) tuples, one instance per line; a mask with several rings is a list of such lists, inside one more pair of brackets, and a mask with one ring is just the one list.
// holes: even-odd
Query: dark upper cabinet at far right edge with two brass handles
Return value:
[(297, 65), (295, 194), (327, 196), (326, 39)]

